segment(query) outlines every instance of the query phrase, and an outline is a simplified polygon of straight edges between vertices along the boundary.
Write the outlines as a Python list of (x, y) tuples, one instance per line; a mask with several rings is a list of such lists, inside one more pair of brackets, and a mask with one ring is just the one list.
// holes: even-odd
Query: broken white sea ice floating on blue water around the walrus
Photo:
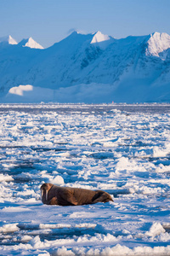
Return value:
[[(170, 105), (0, 105), (1, 255), (170, 255)], [(43, 205), (42, 183), (114, 202)]]

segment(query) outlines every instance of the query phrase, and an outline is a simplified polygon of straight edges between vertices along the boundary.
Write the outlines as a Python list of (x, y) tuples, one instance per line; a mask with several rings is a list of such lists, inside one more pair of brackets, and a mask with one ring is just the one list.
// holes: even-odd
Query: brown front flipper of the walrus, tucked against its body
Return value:
[(61, 206), (77, 206), (78, 202), (71, 191), (67, 189), (59, 191), (58, 204)]

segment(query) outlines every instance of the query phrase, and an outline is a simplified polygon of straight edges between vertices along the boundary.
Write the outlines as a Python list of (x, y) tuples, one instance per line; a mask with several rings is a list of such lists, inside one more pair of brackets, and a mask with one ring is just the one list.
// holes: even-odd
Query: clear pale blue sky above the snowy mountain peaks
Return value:
[(170, 0), (0, 0), (0, 37), (47, 48), (72, 31), (114, 38), (170, 34)]

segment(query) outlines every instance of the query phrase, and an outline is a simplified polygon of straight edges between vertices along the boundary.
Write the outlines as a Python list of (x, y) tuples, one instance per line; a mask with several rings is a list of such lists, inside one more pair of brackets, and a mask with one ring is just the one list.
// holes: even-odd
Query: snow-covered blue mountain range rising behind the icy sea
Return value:
[(2, 102), (32, 102), (34, 92), (37, 102), (170, 102), (167, 33), (116, 39), (73, 32), (48, 49), (32, 40), (0, 43)]

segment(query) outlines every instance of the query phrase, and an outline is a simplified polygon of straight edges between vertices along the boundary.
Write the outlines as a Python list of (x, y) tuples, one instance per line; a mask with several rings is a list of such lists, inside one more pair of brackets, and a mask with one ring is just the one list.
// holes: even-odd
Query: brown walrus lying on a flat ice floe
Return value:
[(102, 190), (59, 187), (52, 183), (43, 183), (40, 189), (42, 203), (46, 205), (82, 206), (113, 201), (111, 195)]

